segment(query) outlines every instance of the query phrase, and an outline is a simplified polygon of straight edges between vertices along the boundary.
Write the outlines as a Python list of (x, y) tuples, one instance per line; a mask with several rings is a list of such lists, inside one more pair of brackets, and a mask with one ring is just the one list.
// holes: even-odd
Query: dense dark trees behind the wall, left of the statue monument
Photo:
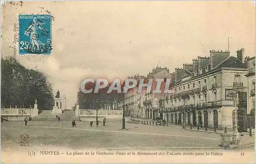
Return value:
[(33, 107), (37, 99), (38, 108), (51, 110), (52, 86), (43, 73), (26, 69), (13, 57), (2, 58), (1, 69), (2, 108)]

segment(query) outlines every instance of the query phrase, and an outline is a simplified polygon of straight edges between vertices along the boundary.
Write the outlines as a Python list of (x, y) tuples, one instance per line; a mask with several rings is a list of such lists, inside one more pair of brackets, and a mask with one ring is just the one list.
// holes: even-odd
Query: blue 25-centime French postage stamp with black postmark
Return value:
[(51, 54), (51, 15), (19, 15), (19, 54)]

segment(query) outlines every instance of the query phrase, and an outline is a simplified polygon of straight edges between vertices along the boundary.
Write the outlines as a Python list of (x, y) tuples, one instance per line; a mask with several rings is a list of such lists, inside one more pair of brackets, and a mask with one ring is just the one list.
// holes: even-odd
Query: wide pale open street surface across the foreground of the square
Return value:
[(220, 135), (185, 131), (179, 126), (148, 126), (121, 122), (107, 122), (106, 126), (89, 126), (89, 122), (4, 122), (2, 149), (19, 147), (20, 135), (29, 135), (29, 146), (51, 145), (74, 149), (147, 149), (147, 148), (218, 148)]

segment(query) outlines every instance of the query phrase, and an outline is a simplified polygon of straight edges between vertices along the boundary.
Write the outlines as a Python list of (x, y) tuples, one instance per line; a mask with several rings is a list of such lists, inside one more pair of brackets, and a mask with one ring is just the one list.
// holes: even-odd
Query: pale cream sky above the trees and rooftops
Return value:
[(50, 14), (51, 56), (19, 56), (28, 69), (44, 72), (69, 108), (87, 77), (147, 75), (157, 65), (170, 72), (209, 50), (255, 55), (253, 2), (88, 1), (19, 2), (2, 5), (1, 55), (13, 56), (18, 14)]

